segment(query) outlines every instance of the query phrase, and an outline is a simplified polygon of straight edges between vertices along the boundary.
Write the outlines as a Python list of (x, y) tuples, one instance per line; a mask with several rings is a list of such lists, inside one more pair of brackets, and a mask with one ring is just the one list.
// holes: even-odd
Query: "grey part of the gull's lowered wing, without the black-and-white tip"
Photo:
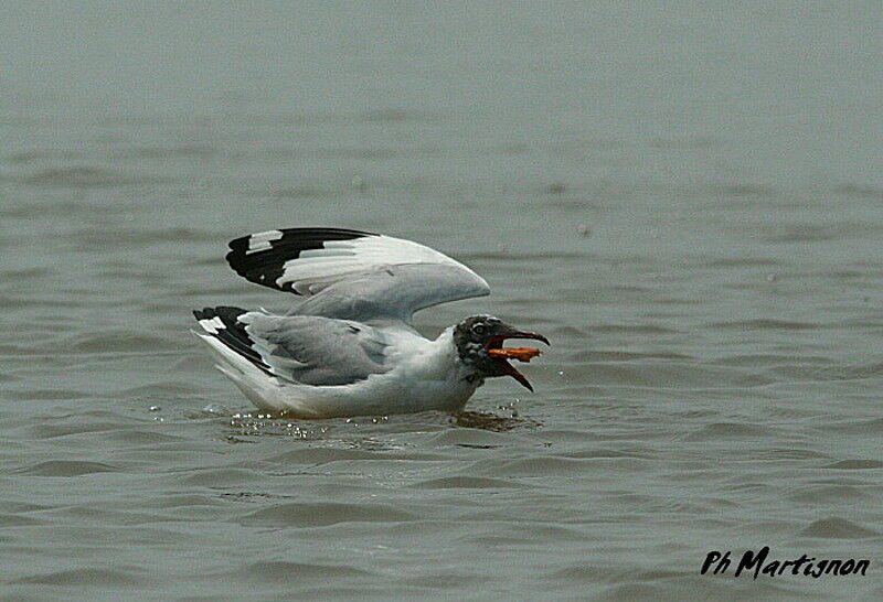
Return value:
[(349, 385), (387, 372), (382, 333), (365, 324), (321, 316), (240, 316), (263, 363), (275, 376), (305, 385)]

